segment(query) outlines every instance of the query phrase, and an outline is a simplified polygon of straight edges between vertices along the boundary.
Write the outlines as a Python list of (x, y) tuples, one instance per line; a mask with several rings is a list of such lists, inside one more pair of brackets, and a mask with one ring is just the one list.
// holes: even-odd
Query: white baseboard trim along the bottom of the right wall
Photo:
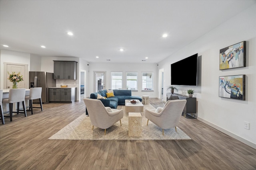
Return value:
[(221, 131), (222, 133), (225, 133), (226, 135), (229, 135), (229, 136), (233, 137), (234, 139), (237, 139), (238, 141), (240, 141), (240, 142), (242, 142), (242, 143), (244, 143), (244, 144), (246, 144), (246, 145), (256, 149), (256, 144), (255, 143), (247, 141), (246, 139), (244, 139), (242, 137), (239, 137), (239, 136), (235, 135), (234, 133), (231, 133), (230, 131), (222, 129), (221, 127), (218, 127), (218, 126), (216, 126), (216, 125), (214, 125), (214, 124), (212, 124), (212, 123), (210, 123), (210, 122), (208, 122), (208, 121), (206, 121), (206, 120), (204, 120), (204, 119), (202, 119), (200, 117), (197, 117), (197, 119), (202, 121), (202, 122), (204, 122), (204, 123), (206, 123), (207, 125), (215, 128), (215, 129)]

